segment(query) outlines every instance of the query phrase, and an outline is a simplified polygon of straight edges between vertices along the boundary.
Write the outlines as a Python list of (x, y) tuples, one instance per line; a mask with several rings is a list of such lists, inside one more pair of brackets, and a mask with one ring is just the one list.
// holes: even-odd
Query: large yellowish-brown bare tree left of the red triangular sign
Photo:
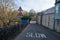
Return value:
[(11, 8), (12, 3), (13, 0), (0, 0), (0, 26), (14, 24), (18, 20), (18, 11)]

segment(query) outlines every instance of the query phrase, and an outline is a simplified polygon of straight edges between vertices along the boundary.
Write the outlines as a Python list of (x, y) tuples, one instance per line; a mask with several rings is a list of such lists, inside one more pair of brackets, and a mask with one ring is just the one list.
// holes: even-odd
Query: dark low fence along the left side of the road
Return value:
[(9, 37), (15, 35), (19, 30), (19, 25), (0, 28), (0, 40), (8, 40)]

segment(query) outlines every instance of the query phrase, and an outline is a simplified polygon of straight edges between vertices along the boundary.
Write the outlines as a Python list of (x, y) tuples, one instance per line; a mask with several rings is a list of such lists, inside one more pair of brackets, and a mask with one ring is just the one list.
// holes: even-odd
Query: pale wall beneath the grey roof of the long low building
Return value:
[[(40, 24), (41, 16), (37, 17), (37, 22)], [(44, 14), (42, 17), (42, 25), (54, 30), (54, 14)]]

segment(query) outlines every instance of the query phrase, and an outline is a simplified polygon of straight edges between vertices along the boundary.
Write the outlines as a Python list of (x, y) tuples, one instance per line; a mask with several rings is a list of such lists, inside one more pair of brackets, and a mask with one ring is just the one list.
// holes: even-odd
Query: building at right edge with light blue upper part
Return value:
[(55, 1), (55, 30), (60, 32), (60, 0)]

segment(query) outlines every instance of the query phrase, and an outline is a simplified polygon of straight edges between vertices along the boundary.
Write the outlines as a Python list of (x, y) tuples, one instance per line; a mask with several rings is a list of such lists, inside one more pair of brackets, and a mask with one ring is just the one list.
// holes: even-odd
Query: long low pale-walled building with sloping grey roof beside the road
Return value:
[(55, 7), (49, 8), (42, 12), (38, 12), (36, 22), (37, 24), (43, 25), (51, 30), (60, 32), (60, 26), (57, 25), (58, 22), (56, 22), (55, 15), (56, 15)]

